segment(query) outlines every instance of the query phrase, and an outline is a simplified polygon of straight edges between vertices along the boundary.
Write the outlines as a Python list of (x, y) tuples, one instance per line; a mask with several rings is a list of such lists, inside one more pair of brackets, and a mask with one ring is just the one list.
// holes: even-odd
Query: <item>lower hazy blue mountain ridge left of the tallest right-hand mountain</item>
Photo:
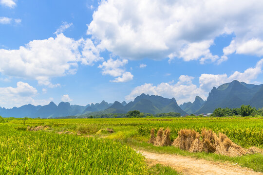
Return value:
[(176, 103), (174, 98), (168, 99), (157, 95), (141, 94), (136, 97), (133, 102), (126, 103), (123, 101), (114, 102), (109, 104), (105, 101), (101, 103), (80, 106), (70, 105), (68, 102), (60, 102), (56, 105), (54, 102), (50, 102), (49, 105), (34, 106), (23, 105), (21, 107), (14, 107), (12, 109), (0, 108), (0, 115), (3, 117), (32, 117), (32, 118), (55, 118), (65, 116), (79, 116), (79, 115), (96, 115), (96, 114), (109, 114), (119, 113), (125, 114), (130, 110), (139, 110), (144, 113), (166, 113), (166, 112), (178, 112), (181, 115), (187, 114)]

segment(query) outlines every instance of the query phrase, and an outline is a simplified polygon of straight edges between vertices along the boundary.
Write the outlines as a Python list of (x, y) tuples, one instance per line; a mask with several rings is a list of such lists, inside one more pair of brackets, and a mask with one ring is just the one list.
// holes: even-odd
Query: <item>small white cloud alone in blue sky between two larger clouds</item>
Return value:
[(102, 69), (103, 75), (111, 75), (113, 77), (117, 77), (114, 80), (111, 80), (111, 82), (127, 82), (131, 81), (133, 78), (131, 72), (127, 72), (124, 69), (124, 66), (127, 63), (127, 59), (113, 60), (112, 58), (110, 58), (109, 60), (104, 61), (101, 65), (99, 65), (98, 68)]

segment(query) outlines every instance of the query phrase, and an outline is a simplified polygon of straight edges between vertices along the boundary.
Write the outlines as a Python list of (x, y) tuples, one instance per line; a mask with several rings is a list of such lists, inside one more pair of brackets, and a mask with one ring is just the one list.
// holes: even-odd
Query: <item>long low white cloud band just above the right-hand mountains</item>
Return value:
[(196, 95), (205, 100), (213, 87), (218, 87), (233, 80), (251, 83), (262, 73), (262, 67), (263, 59), (261, 59), (254, 68), (248, 68), (244, 70), (244, 72), (235, 71), (229, 76), (227, 74), (201, 74), (199, 77), (199, 86), (193, 84), (192, 81), (194, 77), (188, 75), (181, 75), (177, 83), (172, 81), (169, 83), (160, 83), (156, 86), (145, 83), (134, 88), (125, 98), (127, 101), (131, 101), (136, 96), (146, 93), (161, 95), (167, 98), (174, 97), (178, 104), (193, 101)]

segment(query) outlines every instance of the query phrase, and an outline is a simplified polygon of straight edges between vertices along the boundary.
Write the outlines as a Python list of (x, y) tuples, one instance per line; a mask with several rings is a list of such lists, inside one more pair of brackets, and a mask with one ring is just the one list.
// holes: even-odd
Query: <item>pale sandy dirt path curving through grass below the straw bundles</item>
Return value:
[(139, 151), (152, 164), (160, 163), (169, 165), (184, 175), (263, 175), (248, 168), (242, 168), (232, 164), (195, 159), (192, 157), (156, 154)]

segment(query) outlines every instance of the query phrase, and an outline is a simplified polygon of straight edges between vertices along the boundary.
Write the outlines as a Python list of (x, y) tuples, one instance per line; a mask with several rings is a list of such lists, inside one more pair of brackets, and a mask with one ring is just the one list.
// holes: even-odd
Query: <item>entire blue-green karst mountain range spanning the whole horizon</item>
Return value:
[(251, 105), (256, 108), (263, 107), (263, 85), (232, 81), (218, 88), (212, 88), (207, 97), (207, 101), (196, 96), (193, 103), (184, 103), (180, 105), (180, 107), (174, 98), (169, 99), (158, 95), (146, 95), (143, 93), (128, 104), (125, 101), (122, 103), (114, 102), (113, 104), (102, 101), (101, 103), (81, 106), (70, 105), (68, 102), (61, 102), (58, 105), (50, 102), (49, 105), (43, 106), (28, 104), (10, 109), (0, 107), (0, 116), (55, 118), (109, 113), (125, 114), (130, 110), (139, 110), (140, 112), (151, 114), (178, 112), (181, 113), (181, 115), (186, 115), (187, 113), (212, 113), (214, 109), (218, 107), (236, 108), (241, 105)]

